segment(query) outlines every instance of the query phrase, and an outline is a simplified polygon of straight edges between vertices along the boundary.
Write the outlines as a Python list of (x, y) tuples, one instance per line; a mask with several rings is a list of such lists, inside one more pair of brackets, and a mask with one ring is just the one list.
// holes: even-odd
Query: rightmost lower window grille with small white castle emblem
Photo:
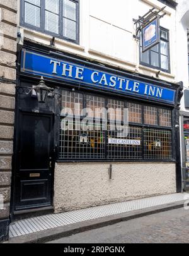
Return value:
[(144, 128), (144, 159), (172, 159), (171, 131)]

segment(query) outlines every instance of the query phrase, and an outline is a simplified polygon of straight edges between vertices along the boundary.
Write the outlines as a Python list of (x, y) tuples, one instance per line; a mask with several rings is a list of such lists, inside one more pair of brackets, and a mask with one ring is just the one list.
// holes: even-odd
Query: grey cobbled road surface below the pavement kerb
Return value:
[(188, 226), (189, 211), (181, 208), (85, 231), (49, 243), (189, 243)]

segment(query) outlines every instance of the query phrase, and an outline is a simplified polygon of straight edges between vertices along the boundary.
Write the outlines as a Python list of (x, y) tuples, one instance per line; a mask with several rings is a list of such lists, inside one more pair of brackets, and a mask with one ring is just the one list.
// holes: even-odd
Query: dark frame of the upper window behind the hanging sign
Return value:
[[(168, 39), (164, 39), (163, 37), (161, 37), (161, 30), (163, 30), (164, 32), (166, 32), (168, 34)], [(168, 43), (168, 70), (165, 70), (164, 68), (161, 68), (161, 55), (164, 55), (164, 54), (161, 54), (161, 41), (164, 41), (166, 43)], [(149, 68), (152, 68), (152, 69), (156, 69), (156, 70), (161, 70), (165, 73), (171, 73), (171, 62), (170, 62), (170, 39), (169, 39), (169, 30), (167, 28), (163, 28), (163, 27), (160, 27), (160, 42), (159, 44), (157, 44), (157, 47), (158, 47), (158, 58), (159, 58), (159, 61), (158, 61), (158, 65), (159, 66), (153, 66), (151, 64), (151, 49), (147, 50), (146, 52), (149, 52), (149, 64), (148, 63), (145, 63), (142, 61), (142, 54), (141, 54), (141, 37), (140, 37), (140, 44), (139, 44), (139, 54), (140, 54), (140, 64), (142, 66), (147, 66)]]

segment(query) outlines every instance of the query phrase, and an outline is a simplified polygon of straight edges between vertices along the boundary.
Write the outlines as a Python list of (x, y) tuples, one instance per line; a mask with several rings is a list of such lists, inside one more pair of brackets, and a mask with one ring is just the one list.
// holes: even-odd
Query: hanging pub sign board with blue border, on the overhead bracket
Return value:
[(142, 52), (156, 46), (160, 42), (159, 18), (142, 27)]

